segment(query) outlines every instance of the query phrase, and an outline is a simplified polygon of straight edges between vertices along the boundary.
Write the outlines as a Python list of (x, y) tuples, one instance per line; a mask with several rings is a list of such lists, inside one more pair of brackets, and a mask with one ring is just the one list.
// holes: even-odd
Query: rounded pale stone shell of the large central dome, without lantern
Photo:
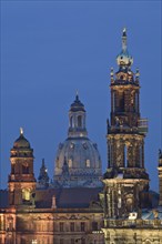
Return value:
[(101, 175), (101, 159), (97, 144), (88, 138), (68, 138), (60, 143), (55, 159), (55, 175), (62, 173), (64, 161), (71, 175)]

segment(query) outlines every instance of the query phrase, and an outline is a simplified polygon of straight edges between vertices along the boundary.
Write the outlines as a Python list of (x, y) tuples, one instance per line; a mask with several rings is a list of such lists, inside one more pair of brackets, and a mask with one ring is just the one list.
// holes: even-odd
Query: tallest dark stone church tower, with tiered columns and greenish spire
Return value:
[[(139, 212), (148, 201), (149, 175), (144, 169), (144, 138), (148, 121), (140, 114), (139, 70), (131, 70), (126, 30), (122, 51), (117, 57), (119, 70), (111, 69), (111, 113), (108, 120), (108, 170), (103, 177), (104, 213), (109, 218)], [(144, 196), (143, 196), (144, 195)]]

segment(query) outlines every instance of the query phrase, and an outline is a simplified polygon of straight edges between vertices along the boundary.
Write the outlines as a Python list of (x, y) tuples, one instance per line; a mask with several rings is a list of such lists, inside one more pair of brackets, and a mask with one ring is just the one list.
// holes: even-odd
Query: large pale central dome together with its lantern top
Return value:
[(68, 139), (59, 144), (54, 181), (63, 186), (101, 186), (101, 159), (88, 138), (85, 110), (77, 94), (69, 111)]

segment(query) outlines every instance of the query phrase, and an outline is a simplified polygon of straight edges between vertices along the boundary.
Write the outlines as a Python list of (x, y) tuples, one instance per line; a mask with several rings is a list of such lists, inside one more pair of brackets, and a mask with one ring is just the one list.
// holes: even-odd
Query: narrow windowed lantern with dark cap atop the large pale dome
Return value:
[(87, 136), (87, 129), (85, 129), (85, 110), (84, 105), (79, 100), (79, 94), (77, 92), (75, 100), (71, 104), (69, 111), (69, 138), (82, 138)]

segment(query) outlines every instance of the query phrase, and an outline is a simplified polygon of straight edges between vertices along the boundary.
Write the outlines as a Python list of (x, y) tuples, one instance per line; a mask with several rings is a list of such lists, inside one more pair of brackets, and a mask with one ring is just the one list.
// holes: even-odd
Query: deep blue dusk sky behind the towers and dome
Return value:
[(145, 167), (158, 191), (161, 1), (2, 1), (1, 21), (1, 187), (7, 187), (10, 149), (20, 126), (34, 150), (36, 176), (42, 157), (53, 176), (75, 90), (105, 171), (110, 68), (118, 70), (115, 57), (126, 27), (132, 70), (138, 67), (141, 73), (141, 116), (149, 119)]

